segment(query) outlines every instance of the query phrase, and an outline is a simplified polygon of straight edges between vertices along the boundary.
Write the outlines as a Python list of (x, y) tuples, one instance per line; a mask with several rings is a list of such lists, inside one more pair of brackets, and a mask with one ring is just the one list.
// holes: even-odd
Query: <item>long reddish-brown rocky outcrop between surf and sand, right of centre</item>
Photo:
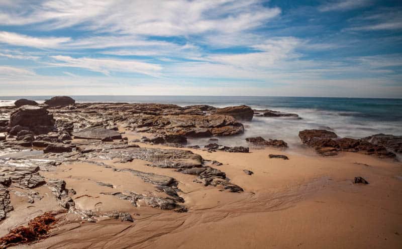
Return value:
[(299, 132), (303, 144), (316, 149), (323, 156), (334, 156), (339, 151), (356, 152), (379, 158), (395, 158), (396, 155), (382, 145), (371, 144), (361, 139), (339, 138), (326, 130), (305, 130)]

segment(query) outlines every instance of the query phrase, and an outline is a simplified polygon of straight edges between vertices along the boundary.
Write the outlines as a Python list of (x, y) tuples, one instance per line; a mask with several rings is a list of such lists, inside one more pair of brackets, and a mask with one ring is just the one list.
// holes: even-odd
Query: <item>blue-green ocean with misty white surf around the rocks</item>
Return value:
[[(52, 96), (4, 96), (0, 106), (13, 105), (19, 98), (39, 102)], [(338, 136), (362, 138), (378, 133), (402, 135), (402, 99), (327, 97), (249, 97), (249, 96), (71, 96), (77, 102), (171, 103), (180, 106), (208, 104), (216, 107), (245, 104), (253, 109), (272, 109), (297, 113), (301, 119), (254, 117), (242, 122), (245, 133), (221, 138), (220, 144), (245, 145), (245, 138), (261, 136), (281, 139), (290, 147), (300, 145), (298, 132), (327, 129)], [(204, 144), (207, 140), (191, 141)]]

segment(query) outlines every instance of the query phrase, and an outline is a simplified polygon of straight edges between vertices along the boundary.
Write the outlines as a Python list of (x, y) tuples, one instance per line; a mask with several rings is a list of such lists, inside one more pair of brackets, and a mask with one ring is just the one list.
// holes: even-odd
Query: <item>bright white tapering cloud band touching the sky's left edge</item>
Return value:
[(70, 41), (69, 37), (32, 37), (11, 32), (0, 32), (0, 43), (34, 48), (55, 48)]

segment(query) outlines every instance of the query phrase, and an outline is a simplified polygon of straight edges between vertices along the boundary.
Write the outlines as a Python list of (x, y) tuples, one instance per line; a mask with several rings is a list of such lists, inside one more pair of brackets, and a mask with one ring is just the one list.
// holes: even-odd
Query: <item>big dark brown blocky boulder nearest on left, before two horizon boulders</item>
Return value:
[(37, 126), (53, 125), (53, 115), (47, 109), (38, 106), (24, 105), (14, 111), (10, 117), (10, 127), (13, 127), (13, 129), (15, 129), (15, 126), (33, 129)]

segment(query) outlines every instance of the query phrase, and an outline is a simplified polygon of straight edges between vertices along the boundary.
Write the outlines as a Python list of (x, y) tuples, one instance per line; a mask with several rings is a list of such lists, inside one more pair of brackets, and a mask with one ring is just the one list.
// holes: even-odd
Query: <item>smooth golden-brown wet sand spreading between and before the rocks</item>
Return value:
[[(127, 134), (129, 141), (138, 136), (141, 135)], [(226, 172), (230, 181), (241, 186), (244, 192), (205, 187), (194, 182), (195, 176), (150, 167), (142, 160), (121, 164), (99, 159), (119, 169), (175, 178), (188, 212), (134, 207), (127, 200), (99, 193), (135, 190), (162, 197), (166, 194), (156, 192), (153, 185), (130, 174), (96, 164), (63, 163), (54, 171), (41, 174), (63, 179), (68, 187), (74, 188), (77, 207), (99, 212), (116, 209), (129, 212), (134, 222), (105, 218), (91, 223), (74, 221), (72, 217), (70, 222), (54, 228), (49, 238), (16, 248), (402, 247), (400, 162), (357, 153), (324, 158), (314, 153), (303, 155), (275, 149), (251, 149), (248, 154), (191, 151), (204, 159), (223, 163), (214, 167)], [(287, 155), (289, 160), (269, 159), (268, 154)], [(254, 174), (247, 175), (244, 169)], [(353, 184), (356, 176), (364, 177), (370, 184)], [(97, 182), (113, 187), (100, 186)], [(12, 193), (11, 196), (15, 210), (6, 219), (9, 223), (2, 223), (2, 234), (7, 230), (5, 224), (9, 228), (12, 223), (24, 223), (18, 218), (24, 207), (35, 206), (35, 210), (41, 207), (40, 210), (46, 211), (57, 205), (46, 198), (31, 205), (19, 201)], [(49, 205), (43, 207), (43, 203)]]

